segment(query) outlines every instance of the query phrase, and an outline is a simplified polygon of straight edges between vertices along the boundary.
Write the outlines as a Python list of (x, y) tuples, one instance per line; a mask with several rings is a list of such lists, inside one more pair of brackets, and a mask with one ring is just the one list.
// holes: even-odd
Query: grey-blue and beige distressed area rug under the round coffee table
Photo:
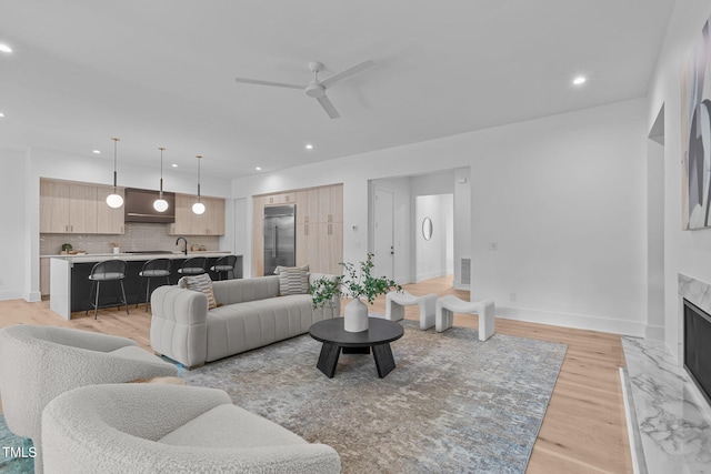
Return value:
[(523, 473), (567, 345), (403, 321), (397, 367), (342, 354), (333, 379), (302, 335), (182, 374), (338, 451), (343, 473)]

